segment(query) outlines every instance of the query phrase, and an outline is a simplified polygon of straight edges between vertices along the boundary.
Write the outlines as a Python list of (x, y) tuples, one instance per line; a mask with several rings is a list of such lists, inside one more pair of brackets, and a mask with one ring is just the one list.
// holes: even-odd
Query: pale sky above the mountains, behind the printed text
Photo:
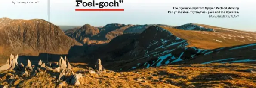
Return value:
[[(11, 19), (45, 19), (47, 16), (47, 0), (39, 1), (39, 4), (12, 4), (15, 0), (0, 0), (0, 18)], [(27, 1), (27, 0), (16, 0)], [(83, 0), (92, 1), (92, 0)], [(113, 1), (113, 0), (96, 0)], [(118, 0), (117, 0), (118, 1)], [(120, 7), (113, 9), (124, 9), (124, 11), (82, 11), (79, 8), (98, 7), (75, 7), (75, 0), (51, 0), (50, 22), (56, 25), (82, 26), (105, 26), (108, 23), (122, 24), (167, 24), (179, 26), (186, 23), (200, 23), (231, 29), (256, 31), (256, 0), (123, 0)], [(176, 7), (239, 7), (239, 14), (170, 14)], [(106, 7), (109, 8), (109, 7)], [(188, 10), (190, 11), (190, 10)], [(225, 10), (222, 10), (225, 11)], [(239, 18), (209, 18), (209, 15), (239, 15)]]

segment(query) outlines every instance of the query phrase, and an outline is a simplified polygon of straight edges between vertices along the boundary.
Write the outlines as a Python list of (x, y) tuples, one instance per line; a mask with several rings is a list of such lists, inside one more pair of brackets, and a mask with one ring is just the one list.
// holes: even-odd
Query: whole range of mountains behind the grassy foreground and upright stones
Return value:
[(39, 60), (41, 53), (49, 53), (86, 63), (100, 58), (104, 67), (115, 71), (256, 60), (255, 32), (197, 23), (112, 23), (103, 27), (85, 24), (63, 32), (59, 26), (41, 19), (0, 18), (0, 36), (1, 55), (38, 56)]

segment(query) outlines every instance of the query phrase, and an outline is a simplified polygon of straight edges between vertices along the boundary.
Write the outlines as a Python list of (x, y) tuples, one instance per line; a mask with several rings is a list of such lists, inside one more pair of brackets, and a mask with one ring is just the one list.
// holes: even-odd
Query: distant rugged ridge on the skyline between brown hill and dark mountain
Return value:
[[(85, 24), (80, 28), (69, 29), (65, 34), (71, 38), (76, 39), (84, 44), (104, 44), (111, 41), (113, 38), (127, 34), (127, 33), (141, 33), (151, 25), (125, 25), (125, 24), (107, 24), (103, 27), (94, 27)], [(167, 26), (162, 24), (154, 24), (160, 26)], [(173, 27), (173, 26), (167, 26)]]

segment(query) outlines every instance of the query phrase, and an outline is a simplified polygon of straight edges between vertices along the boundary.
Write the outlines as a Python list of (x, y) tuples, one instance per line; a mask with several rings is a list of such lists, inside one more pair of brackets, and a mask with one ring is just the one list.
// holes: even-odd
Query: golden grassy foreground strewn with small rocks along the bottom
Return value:
[[(86, 74), (86, 76), (79, 79), (81, 85), (73, 86), (65, 83), (64, 88), (256, 88), (256, 74), (243, 71), (256, 66), (253, 64), (214, 63), (208, 65), (194, 64), (192, 67), (168, 65), (130, 72), (110, 71), (100, 75), (88, 74), (88, 69), (78, 67), (80, 66), (78, 63), (72, 65), (75, 66), (73, 67), (75, 73)], [(0, 85), (8, 85), (10, 79), (6, 78), (12, 74), (15, 73), (13, 71), (0, 73)], [(37, 76), (31, 78), (15, 77), (13, 79), (14, 85), (11, 87), (56, 88), (59, 82), (54, 82), (55, 79), (52, 76), (58, 74), (37, 73)], [(233, 80), (223, 80), (220, 79), (221, 76), (231, 76)], [(134, 80), (135, 78), (147, 82), (139, 82)]]

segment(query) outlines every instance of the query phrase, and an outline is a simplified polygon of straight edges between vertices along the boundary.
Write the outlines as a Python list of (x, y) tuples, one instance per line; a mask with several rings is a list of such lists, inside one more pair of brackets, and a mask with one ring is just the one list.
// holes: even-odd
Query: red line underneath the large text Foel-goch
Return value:
[(76, 11), (124, 11), (124, 9), (76, 9)]

